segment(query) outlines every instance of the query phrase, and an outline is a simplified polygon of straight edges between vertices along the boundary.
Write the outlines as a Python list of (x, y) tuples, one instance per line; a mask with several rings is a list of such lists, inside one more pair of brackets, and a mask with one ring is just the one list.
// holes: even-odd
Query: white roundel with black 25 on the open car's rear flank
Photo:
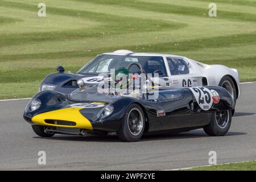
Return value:
[(199, 104), (201, 109), (209, 110), (213, 105), (213, 94), (208, 88), (205, 87), (192, 87), (188, 88), (192, 91), (196, 98), (196, 102)]

